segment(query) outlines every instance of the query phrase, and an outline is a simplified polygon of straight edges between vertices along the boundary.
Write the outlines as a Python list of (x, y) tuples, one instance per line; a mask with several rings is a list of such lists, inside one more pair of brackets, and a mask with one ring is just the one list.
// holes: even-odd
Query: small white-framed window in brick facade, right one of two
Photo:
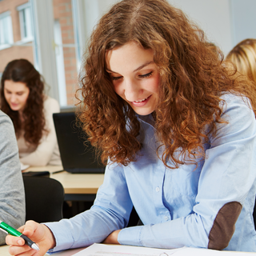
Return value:
[(18, 15), (19, 15), (19, 23), (21, 30), (21, 38), (22, 41), (32, 41), (32, 23), (31, 23), (31, 15), (30, 15), (30, 3), (27, 2), (22, 6), (17, 7)]

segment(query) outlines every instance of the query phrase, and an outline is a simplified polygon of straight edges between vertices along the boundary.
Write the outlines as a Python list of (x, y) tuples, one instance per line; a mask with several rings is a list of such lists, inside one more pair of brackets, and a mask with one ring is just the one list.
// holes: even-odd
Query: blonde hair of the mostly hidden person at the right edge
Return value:
[(248, 38), (239, 42), (226, 55), (226, 61), (232, 62), (239, 73), (245, 74), (256, 84), (256, 39)]

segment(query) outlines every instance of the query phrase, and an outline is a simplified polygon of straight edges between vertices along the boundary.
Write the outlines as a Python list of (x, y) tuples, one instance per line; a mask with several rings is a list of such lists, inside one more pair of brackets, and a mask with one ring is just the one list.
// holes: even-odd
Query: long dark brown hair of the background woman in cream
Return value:
[[(6, 80), (14, 82), (24, 82), (30, 89), (29, 97), (23, 110), (24, 122), (21, 122), (18, 111), (11, 110), (4, 95), (4, 86)], [(44, 102), (44, 81), (32, 63), (26, 59), (15, 59), (9, 62), (2, 73), (0, 89), (0, 108), (10, 116), (14, 122), (16, 136), (19, 137), (24, 130), (26, 142), (38, 146), (42, 135), (47, 133), (45, 128), (46, 120), (43, 113)]]

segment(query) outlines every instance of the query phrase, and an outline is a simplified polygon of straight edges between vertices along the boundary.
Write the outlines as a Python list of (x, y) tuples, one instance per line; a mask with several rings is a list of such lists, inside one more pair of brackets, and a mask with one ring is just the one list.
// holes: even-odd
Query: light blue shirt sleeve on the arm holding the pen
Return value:
[(53, 251), (102, 242), (114, 230), (127, 226), (132, 207), (122, 166), (108, 164), (104, 182), (90, 210), (74, 218), (45, 223), (56, 239)]

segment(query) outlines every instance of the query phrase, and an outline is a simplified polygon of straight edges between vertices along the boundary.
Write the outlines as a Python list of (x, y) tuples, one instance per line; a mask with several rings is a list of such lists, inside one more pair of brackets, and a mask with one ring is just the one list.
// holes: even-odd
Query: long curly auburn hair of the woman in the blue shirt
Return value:
[[(84, 54), (82, 87), (77, 91), (77, 98), (82, 98), (78, 118), (91, 144), (101, 150), (102, 162), (109, 158), (126, 166), (136, 161), (142, 148), (136, 114), (115, 94), (106, 72), (106, 51), (127, 42), (154, 50), (161, 76), (155, 128), (165, 146), (162, 161), (166, 166), (178, 168), (198, 158), (194, 151), (203, 151), (206, 126), (214, 133), (215, 122), (225, 122), (220, 104), (223, 93), (245, 95), (255, 110), (254, 87), (223, 64), (222, 52), (207, 42), (203, 31), (182, 10), (165, 0), (123, 0), (94, 29)], [(174, 151), (179, 148), (182, 158), (178, 159)]]

